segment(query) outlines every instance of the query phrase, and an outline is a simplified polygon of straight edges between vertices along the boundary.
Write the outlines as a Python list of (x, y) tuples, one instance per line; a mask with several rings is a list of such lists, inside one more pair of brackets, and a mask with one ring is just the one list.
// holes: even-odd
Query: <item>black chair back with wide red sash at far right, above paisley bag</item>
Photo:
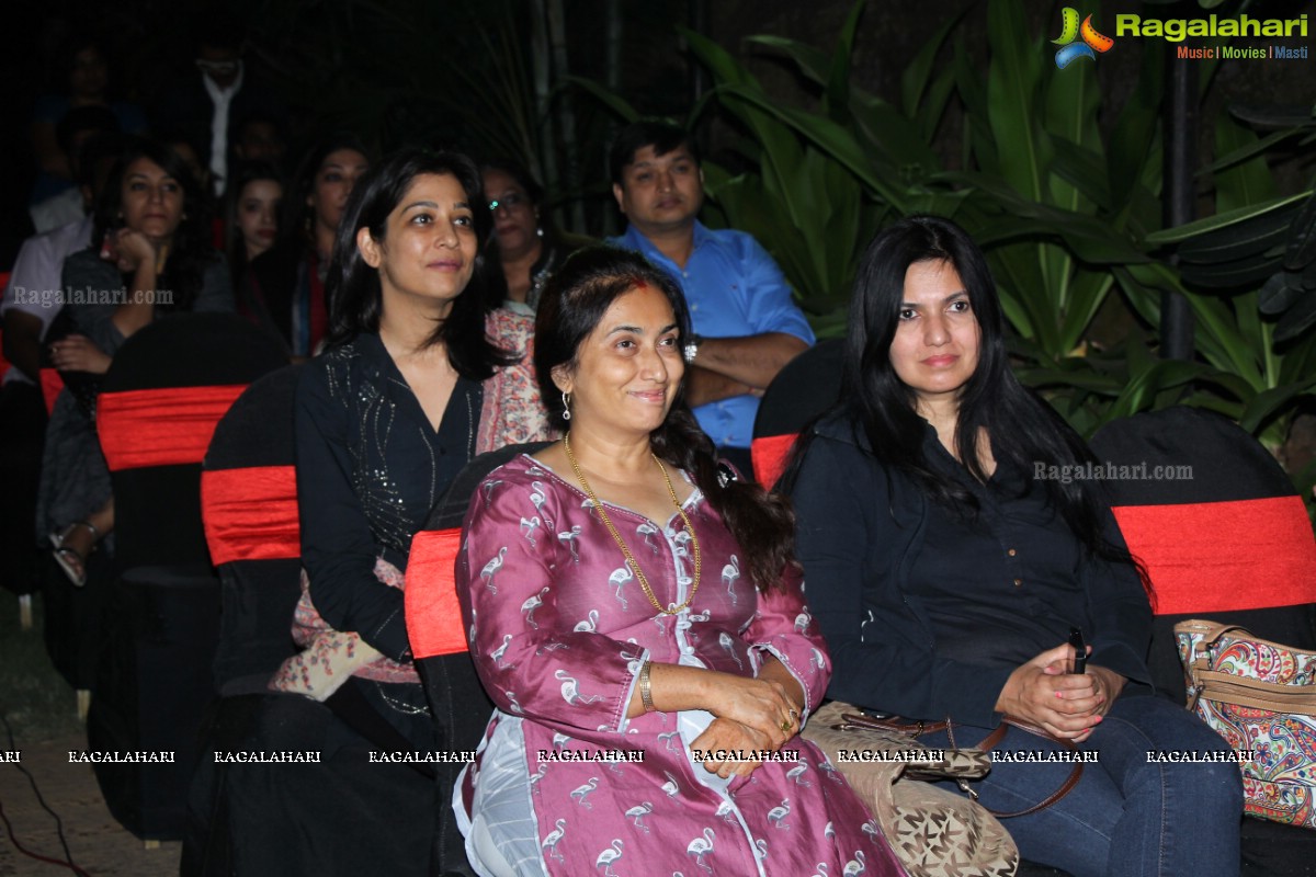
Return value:
[(1316, 539), (1283, 468), (1232, 421), (1198, 408), (1101, 427), (1115, 518), (1152, 579), (1148, 665), (1157, 692), (1184, 702), (1174, 625), (1209, 618), (1316, 648)]

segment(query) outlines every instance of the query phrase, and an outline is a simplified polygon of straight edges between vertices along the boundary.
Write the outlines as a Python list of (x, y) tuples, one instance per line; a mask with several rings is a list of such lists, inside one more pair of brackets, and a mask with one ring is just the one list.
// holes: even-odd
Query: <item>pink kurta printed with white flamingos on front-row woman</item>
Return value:
[[(538, 840), (526, 873), (903, 874), (863, 805), (822, 753), (799, 738), (730, 782), (704, 770), (690, 743), (707, 713), (626, 719), (645, 660), (754, 676), (776, 656), (807, 694), (826, 689), (830, 663), (797, 579), (761, 594), (740, 546), (699, 490), (686, 501), (701, 555), (692, 605), (655, 611), (590, 498), (521, 456), (471, 500), (457, 588), (480, 678), (497, 705), (480, 765), (519, 738)], [(692, 535), (680, 515), (658, 525), (607, 505), (665, 606), (686, 601)], [(507, 734), (519, 723), (520, 734)], [(499, 732), (501, 727), (503, 732)], [(633, 751), (642, 763), (562, 761), (545, 753)], [(641, 756), (636, 756), (641, 757)], [(542, 870), (541, 870), (542, 868)]]

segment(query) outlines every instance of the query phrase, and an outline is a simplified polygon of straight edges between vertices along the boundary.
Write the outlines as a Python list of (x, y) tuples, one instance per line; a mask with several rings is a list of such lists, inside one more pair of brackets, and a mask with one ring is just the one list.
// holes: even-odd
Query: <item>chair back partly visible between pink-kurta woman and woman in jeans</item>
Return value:
[(841, 396), (841, 358), (845, 342), (829, 338), (786, 364), (763, 392), (754, 418), (750, 455), (758, 483), (771, 489), (800, 430)]

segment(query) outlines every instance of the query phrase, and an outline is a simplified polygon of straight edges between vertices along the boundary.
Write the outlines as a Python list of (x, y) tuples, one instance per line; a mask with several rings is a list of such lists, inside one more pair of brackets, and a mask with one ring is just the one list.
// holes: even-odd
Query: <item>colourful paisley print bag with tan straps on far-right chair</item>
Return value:
[(1174, 626), (1188, 709), (1237, 751), (1244, 813), (1316, 828), (1316, 655), (1242, 627), (1192, 619)]

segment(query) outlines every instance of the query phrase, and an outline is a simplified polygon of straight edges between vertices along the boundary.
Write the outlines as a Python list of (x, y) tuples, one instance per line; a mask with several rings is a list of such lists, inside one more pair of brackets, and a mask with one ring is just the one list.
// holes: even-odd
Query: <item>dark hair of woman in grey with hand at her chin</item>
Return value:
[(178, 153), (143, 137), (133, 137), (124, 143), (96, 202), (92, 241), (100, 246), (108, 231), (124, 226), (124, 178), (133, 162), (142, 158), (157, 164), (183, 187), (183, 218), (174, 230), (164, 276), (159, 277), (161, 289), (170, 289), (174, 295), (168, 301), (159, 301), (157, 308), (164, 312), (190, 310), (201, 292), (207, 266), (221, 256), (211, 245), (209, 199)]

